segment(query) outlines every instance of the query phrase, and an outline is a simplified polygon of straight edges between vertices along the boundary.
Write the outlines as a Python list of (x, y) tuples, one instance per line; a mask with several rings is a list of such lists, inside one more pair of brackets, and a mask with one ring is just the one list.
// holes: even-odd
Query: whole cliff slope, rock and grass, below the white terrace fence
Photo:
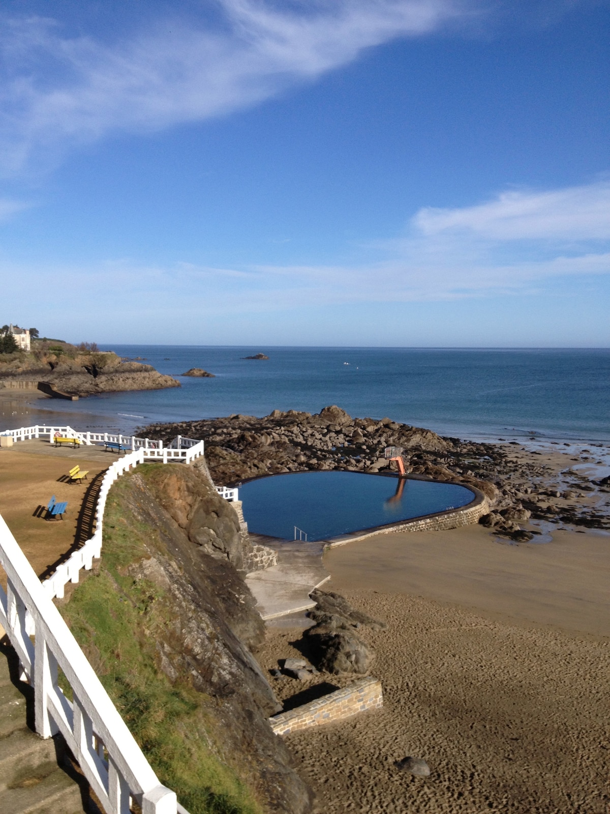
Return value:
[[(161, 716), (163, 728), (176, 729), (194, 764), (185, 765), (182, 760), (179, 770), (173, 771), (168, 768), (168, 755), (159, 755), (163, 750), (155, 746), (155, 737), (160, 736), (142, 736), (141, 741), (152, 744), (147, 756), (159, 777), (176, 788), (191, 812), (252, 811), (237, 803), (206, 807), (206, 795), (220, 792), (210, 789), (216, 781), (209, 777), (205, 782), (196, 779), (201, 776), (197, 767), (201, 755), (206, 759), (211, 755), (240, 778), (264, 811), (310, 811), (312, 794), (268, 725), (268, 716), (280, 706), (252, 655), (264, 639), (264, 623), (237, 572), (246, 552), (231, 506), (216, 494), (202, 467), (147, 465), (113, 486), (107, 513), (100, 571), (78, 586), (66, 615), (70, 623), (79, 592), (93, 593), (90, 604), (97, 608), (103, 580), (111, 580), (114, 588), (107, 602), (111, 604), (118, 595), (122, 604), (117, 604), (116, 614), (125, 619), (132, 618), (128, 612), (136, 608), (129, 638), (139, 642), (142, 653), (154, 661), (155, 681), (161, 676), (173, 688), (172, 698), (192, 700), (195, 694), (196, 711), (177, 721), (168, 712), (173, 701), (163, 703), (157, 712), (149, 711), (148, 700), (136, 705), (136, 733), (146, 724), (141, 716)], [(111, 670), (120, 670), (120, 664), (111, 666), (113, 659), (121, 661), (121, 657), (115, 654), (115, 644), (110, 659), (96, 650), (103, 641), (103, 631), (96, 627), (98, 612), (89, 614), (89, 629), (76, 617), (72, 629), (98, 672), (107, 676), (105, 683), (131, 725), (136, 693), (131, 683), (137, 684), (133, 676), (142, 670), (128, 669), (125, 657), (124, 674), (111, 676)], [(80, 636), (79, 631), (83, 631)], [(150, 727), (157, 731), (159, 721), (155, 718)]]

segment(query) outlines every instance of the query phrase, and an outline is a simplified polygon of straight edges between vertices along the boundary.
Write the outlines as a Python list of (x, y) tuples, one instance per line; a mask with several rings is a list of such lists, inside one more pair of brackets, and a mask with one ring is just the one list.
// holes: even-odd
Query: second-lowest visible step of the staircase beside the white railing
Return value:
[(57, 759), (52, 737), (43, 740), (29, 729), (16, 729), (0, 738), (0, 791), (46, 777), (57, 769)]

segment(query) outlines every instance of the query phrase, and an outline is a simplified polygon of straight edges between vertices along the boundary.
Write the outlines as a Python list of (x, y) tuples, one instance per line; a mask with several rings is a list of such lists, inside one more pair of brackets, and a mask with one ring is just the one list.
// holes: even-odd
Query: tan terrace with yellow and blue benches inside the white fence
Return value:
[[(55, 448), (42, 439), (18, 441), (9, 449), (0, 449), (0, 514), (39, 578), (50, 575), (93, 533), (99, 484), (115, 460), (116, 453), (105, 452), (103, 447)], [(71, 484), (68, 479), (68, 471), (76, 464), (89, 470), (89, 480), (82, 484)], [(44, 519), (41, 507), (51, 495), (57, 501), (68, 501), (63, 521)]]

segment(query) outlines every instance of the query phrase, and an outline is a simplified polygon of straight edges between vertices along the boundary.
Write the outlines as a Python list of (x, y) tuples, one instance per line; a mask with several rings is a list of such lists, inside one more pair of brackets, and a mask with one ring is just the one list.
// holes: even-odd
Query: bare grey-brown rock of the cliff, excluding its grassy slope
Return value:
[(240, 766), (265, 811), (305, 814), (312, 794), (268, 725), (281, 707), (251, 652), (264, 640), (264, 623), (229, 557), (233, 543), (224, 540), (219, 557), (196, 541), (195, 515), (210, 528), (214, 514), (226, 517), (224, 508), (230, 509), (208, 494), (206, 480), (193, 466), (144, 467), (120, 479), (122, 514), (133, 519), (144, 545), (129, 565), (128, 584), (142, 585), (133, 589), (136, 596), (145, 588), (150, 593), (151, 583), (163, 592), (163, 624), (146, 619), (154, 624), (146, 636), (155, 641), (159, 670), (202, 694), (215, 749)]

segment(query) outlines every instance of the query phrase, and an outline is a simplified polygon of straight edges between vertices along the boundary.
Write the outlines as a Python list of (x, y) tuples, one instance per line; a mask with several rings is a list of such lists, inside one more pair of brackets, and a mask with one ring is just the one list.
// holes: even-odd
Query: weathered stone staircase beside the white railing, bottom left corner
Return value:
[(43, 740), (33, 732), (33, 690), (17, 680), (17, 657), (6, 641), (0, 643), (0, 812), (98, 811), (90, 807), (89, 786), (68, 761), (61, 736)]

